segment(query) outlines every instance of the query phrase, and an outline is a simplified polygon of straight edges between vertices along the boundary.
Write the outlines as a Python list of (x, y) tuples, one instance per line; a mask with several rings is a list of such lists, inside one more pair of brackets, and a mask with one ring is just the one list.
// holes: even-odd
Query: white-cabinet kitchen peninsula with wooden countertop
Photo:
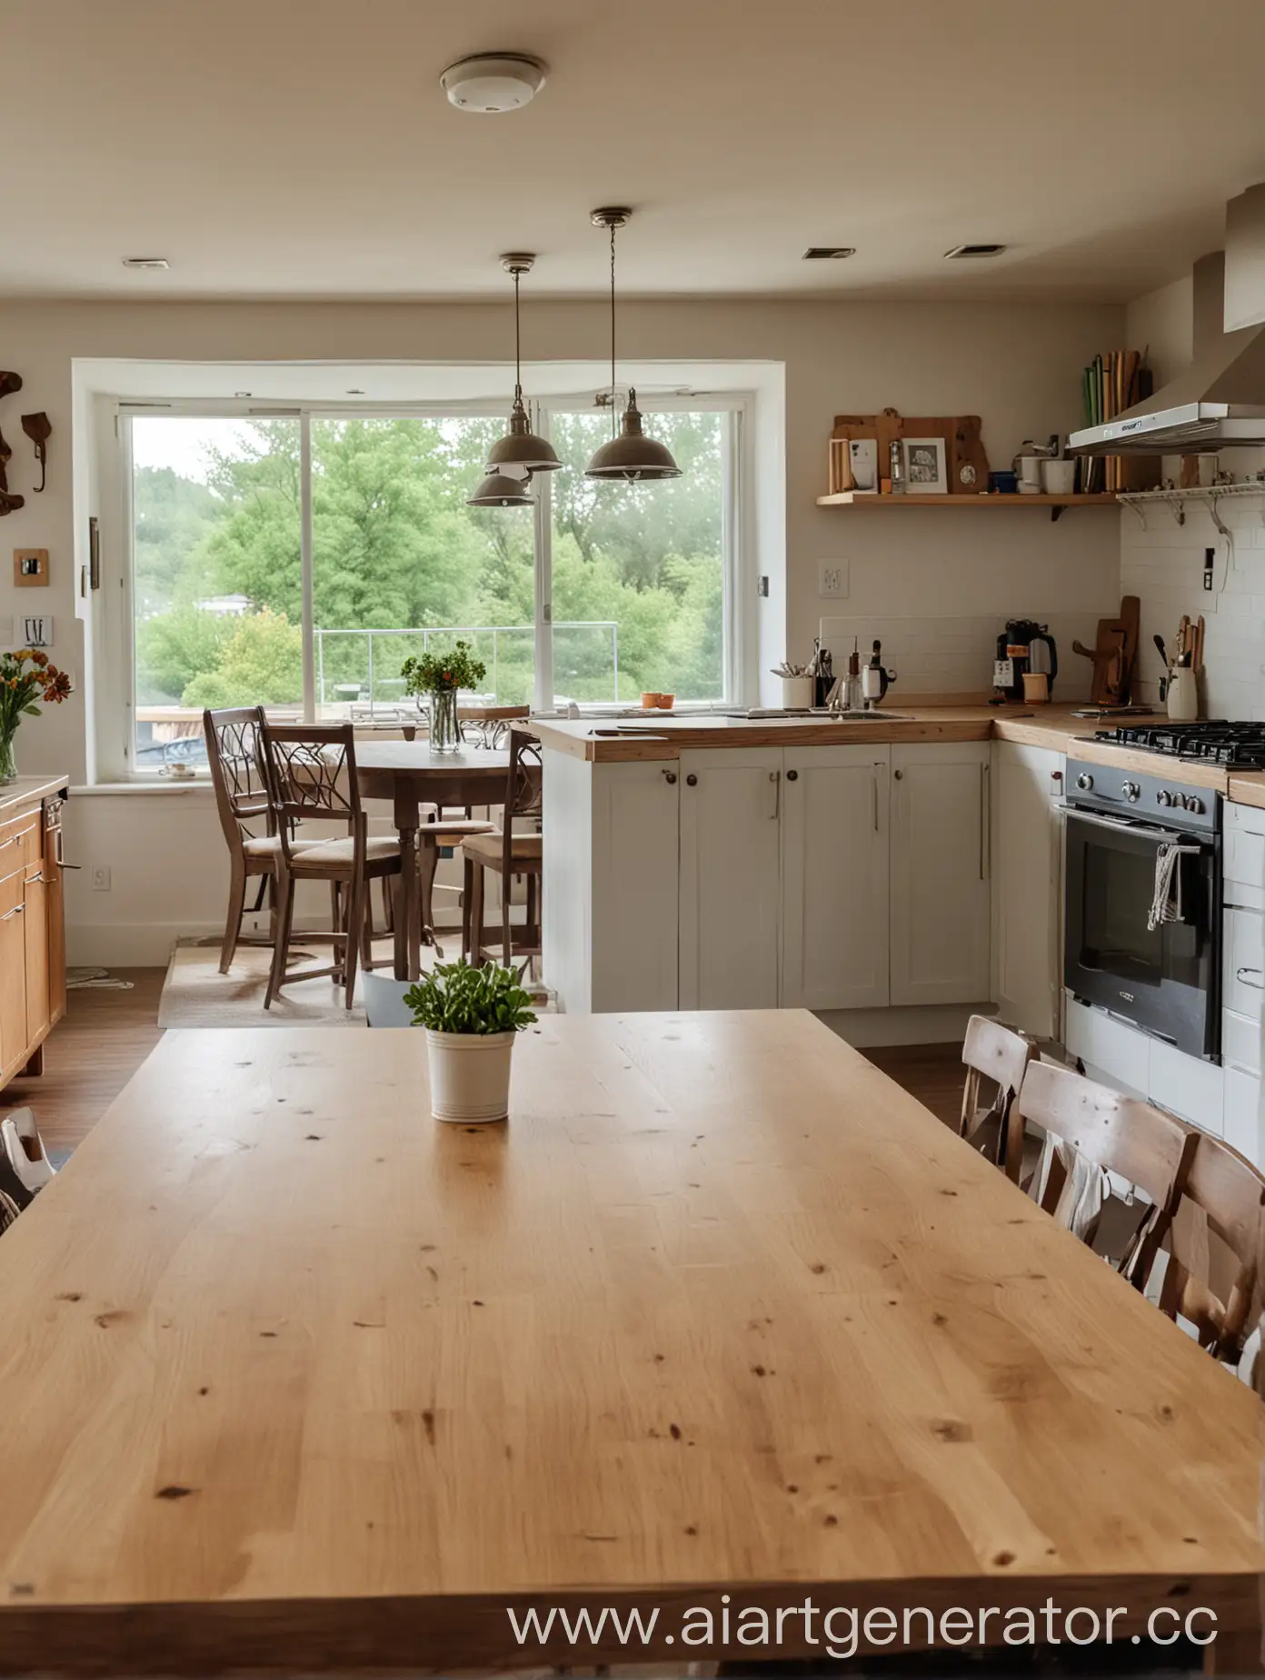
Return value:
[(885, 1028), (916, 1043), (936, 1021), (912, 1011), (1006, 1000), (1053, 1032), (1057, 806), (1094, 721), (944, 706), (533, 727), (561, 1008), (803, 1006), (845, 1035), (905, 1010)]

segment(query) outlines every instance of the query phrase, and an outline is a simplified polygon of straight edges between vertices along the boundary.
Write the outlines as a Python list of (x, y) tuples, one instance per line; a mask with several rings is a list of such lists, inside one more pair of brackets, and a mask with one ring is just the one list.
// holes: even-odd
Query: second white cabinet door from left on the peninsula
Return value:
[(680, 754), (680, 1008), (778, 1006), (781, 748)]

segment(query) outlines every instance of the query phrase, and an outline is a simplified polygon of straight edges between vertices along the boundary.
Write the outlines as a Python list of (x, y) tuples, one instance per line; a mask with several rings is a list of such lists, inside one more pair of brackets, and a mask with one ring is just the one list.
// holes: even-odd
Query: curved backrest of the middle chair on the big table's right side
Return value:
[[(1129, 1275), (1141, 1285), (1176, 1211), (1198, 1134), (1149, 1102), (1122, 1097), (1048, 1062), (1028, 1067), (1016, 1109), (1025, 1121), (1053, 1132), (1082, 1161), (1146, 1193), (1154, 1211), (1129, 1255)], [(1062, 1196), (1065, 1174), (1057, 1161), (1053, 1168), (1042, 1206), (1070, 1223), (1070, 1210), (1060, 1206), (1067, 1200)]]

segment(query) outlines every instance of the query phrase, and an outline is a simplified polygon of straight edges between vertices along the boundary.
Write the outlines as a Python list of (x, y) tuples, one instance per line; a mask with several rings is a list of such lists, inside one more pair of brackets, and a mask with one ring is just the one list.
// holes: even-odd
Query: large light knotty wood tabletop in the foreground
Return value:
[[(0, 1668), (1252, 1626), (1253, 1394), (811, 1016), (544, 1016), (511, 1109), (432, 1122), (418, 1032), (166, 1035), (0, 1240)], [(660, 1621), (521, 1646), (551, 1604)]]

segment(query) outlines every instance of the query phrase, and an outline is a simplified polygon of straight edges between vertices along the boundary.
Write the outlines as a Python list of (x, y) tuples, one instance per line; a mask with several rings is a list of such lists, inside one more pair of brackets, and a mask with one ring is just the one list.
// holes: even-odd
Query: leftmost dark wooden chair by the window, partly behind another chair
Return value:
[[(250, 906), (255, 916), (264, 907), (264, 894), (272, 892), (276, 931), (276, 877), (281, 838), (269, 798), (267, 769), (260, 744), (262, 706), (237, 706), (228, 711), (205, 711), (202, 729), (207, 736), (215, 808), (228, 845), (228, 916), (220, 946), (220, 973), (227, 974), (239, 944), (272, 944), (272, 939), (244, 939), (245, 884), (259, 879), (259, 895)], [(255, 833), (250, 823), (264, 828)], [(297, 845), (297, 842), (296, 842)]]

